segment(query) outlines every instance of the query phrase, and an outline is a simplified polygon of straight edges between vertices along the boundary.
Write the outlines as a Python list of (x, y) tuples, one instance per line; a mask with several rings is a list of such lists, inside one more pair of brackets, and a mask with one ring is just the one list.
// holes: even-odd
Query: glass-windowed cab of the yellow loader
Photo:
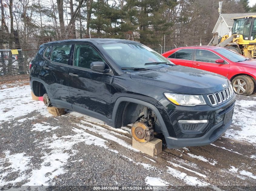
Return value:
[(235, 38), (238, 38), (238, 44), (246, 43), (251, 40), (256, 42), (256, 15), (242, 17), (242, 18), (233, 18), (234, 24), (232, 28), (232, 35), (237, 35)]

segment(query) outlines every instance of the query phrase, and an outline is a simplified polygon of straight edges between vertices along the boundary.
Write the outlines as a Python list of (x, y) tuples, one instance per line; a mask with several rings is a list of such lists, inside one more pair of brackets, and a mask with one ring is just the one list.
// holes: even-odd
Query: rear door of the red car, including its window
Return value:
[(193, 67), (194, 49), (179, 49), (167, 57), (176, 65)]

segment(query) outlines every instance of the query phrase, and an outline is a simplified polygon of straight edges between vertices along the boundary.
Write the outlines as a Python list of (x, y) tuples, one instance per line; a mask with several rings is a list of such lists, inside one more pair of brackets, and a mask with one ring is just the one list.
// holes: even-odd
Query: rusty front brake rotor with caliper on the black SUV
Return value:
[(154, 130), (145, 123), (135, 122), (131, 127), (132, 137), (141, 143), (151, 141), (154, 138)]

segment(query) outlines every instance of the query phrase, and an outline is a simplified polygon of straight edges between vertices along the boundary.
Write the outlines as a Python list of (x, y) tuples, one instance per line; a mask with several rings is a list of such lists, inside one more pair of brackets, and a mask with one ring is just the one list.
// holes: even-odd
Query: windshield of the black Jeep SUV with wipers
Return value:
[[(154, 50), (138, 43), (111, 43), (101, 45), (120, 68), (160, 68), (173, 64)], [(173, 64), (174, 65), (174, 64)]]

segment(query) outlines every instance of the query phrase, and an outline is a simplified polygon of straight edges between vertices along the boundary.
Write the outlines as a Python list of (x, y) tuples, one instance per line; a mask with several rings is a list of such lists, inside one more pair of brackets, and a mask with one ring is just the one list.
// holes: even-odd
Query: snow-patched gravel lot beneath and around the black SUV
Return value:
[(132, 148), (129, 126), (113, 129), (71, 111), (52, 116), (43, 102), (31, 100), (26, 83), (0, 89), (0, 190), (256, 189), (256, 94), (237, 96), (230, 129), (213, 144), (163, 146), (151, 157)]

